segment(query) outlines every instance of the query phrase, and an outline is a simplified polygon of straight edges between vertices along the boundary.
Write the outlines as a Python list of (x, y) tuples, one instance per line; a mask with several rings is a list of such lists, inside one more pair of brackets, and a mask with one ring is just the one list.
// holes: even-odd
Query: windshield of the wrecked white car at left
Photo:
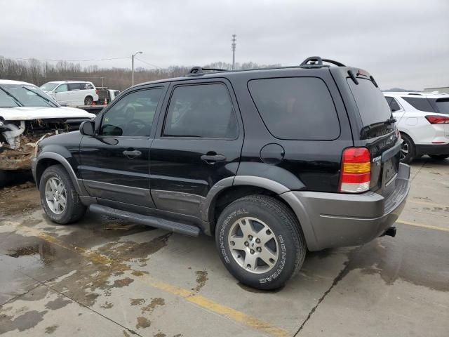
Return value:
[[(0, 107), (59, 107), (60, 105), (31, 84), (0, 84)], [(10, 93), (11, 95), (8, 95)], [(16, 100), (15, 100), (15, 99)]]

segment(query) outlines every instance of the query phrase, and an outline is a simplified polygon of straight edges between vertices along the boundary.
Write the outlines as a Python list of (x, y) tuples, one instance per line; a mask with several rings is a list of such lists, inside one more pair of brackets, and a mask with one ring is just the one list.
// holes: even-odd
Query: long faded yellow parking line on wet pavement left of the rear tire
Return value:
[[(96, 264), (101, 264), (101, 265), (121, 264), (112, 258), (109, 258), (100, 253), (96, 253), (95, 251), (91, 251), (91, 249), (86, 249), (83, 247), (73, 246), (72, 244), (67, 244), (65, 242), (62, 242), (62, 240), (60, 240), (56, 237), (53, 237), (49, 234), (40, 232), (39, 230), (36, 230), (34, 228), (18, 226), (18, 227), (16, 227), (16, 230), (17, 230), (17, 232), (22, 232), (24, 234), (33, 235), (34, 237), (39, 237), (40, 239), (43, 239), (46, 242), (49, 242), (51, 244), (55, 244), (56, 246), (60, 246), (63, 249), (67, 249), (69, 251), (76, 251), (76, 253), (81, 254), (81, 256), (83, 256), (87, 260), (90, 260), (91, 262), (96, 263)], [(128, 267), (127, 265), (125, 265), (124, 267), (126, 270), (128, 270), (130, 272), (135, 271), (132, 268)], [(273, 326), (272, 324), (269, 324), (268, 322), (264, 322), (260, 319), (252, 317), (250, 315), (246, 315), (245, 313), (240, 312), (239, 310), (229, 308), (226, 305), (221, 305), (220, 303), (215, 303), (213, 300), (210, 300), (204, 296), (198, 295), (197, 293), (194, 293), (193, 291), (190, 291), (188, 289), (184, 289), (179, 286), (173, 286), (166, 282), (162, 282), (160, 280), (154, 279), (154, 277), (151, 277), (149, 275), (141, 275), (141, 276), (134, 275), (134, 277), (136, 277), (136, 279), (140, 280), (141, 282), (147, 284), (148, 286), (152, 286), (155, 289), (159, 289), (161, 291), (166, 291), (167, 293), (171, 293), (173, 295), (185, 298), (185, 300), (187, 300), (189, 303), (194, 303), (195, 305), (198, 305), (199, 307), (201, 307), (203, 309), (209, 310), (211, 312), (215, 312), (218, 315), (222, 315), (223, 317), (232, 319), (235, 322), (239, 322), (241, 324), (249, 326), (253, 329), (256, 329), (257, 331), (266, 333), (269, 336), (275, 336), (275, 337), (291, 336), (291, 333), (289, 333), (288, 331), (286, 331), (284, 329), (281, 329), (277, 326)]]

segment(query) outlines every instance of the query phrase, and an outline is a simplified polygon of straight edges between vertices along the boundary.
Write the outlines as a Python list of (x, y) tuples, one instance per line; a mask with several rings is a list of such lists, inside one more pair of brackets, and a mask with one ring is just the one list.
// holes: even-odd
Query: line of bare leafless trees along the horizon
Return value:
[[(257, 65), (255, 62), (236, 63), (236, 69), (254, 69), (260, 67), (279, 67), (276, 65)], [(227, 62), (213, 62), (204, 67), (232, 69)], [(184, 76), (191, 67), (173, 65), (165, 68), (134, 70), (134, 83), (168, 79)], [(49, 81), (91, 81), (95, 86), (107, 86), (112, 89), (124, 90), (130, 86), (131, 70), (129, 68), (101, 68), (98, 65), (81, 67), (79, 63), (58, 61), (42, 62), (39, 60), (13, 60), (0, 56), (0, 79), (25, 81), (36, 86)]]

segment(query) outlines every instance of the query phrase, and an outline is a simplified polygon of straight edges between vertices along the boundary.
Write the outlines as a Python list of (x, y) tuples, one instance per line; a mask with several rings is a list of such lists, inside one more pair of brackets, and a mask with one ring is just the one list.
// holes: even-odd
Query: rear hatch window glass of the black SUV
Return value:
[(385, 100), (382, 91), (376, 88), (369, 79), (357, 78), (358, 84), (352, 79), (347, 79), (349, 88), (358, 107), (363, 126), (369, 126), (391, 117), (391, 110)]

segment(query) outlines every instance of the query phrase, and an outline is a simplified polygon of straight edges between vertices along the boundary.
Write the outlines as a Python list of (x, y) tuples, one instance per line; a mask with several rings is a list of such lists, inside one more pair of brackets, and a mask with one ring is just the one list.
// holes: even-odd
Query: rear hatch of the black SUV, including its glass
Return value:
[(367, 147), (371, 156), (370, 190), (388, 197), (394, 191), (399, 169), (400, 142), (391, 110), (373, 77), (350, 70), (347, 84), (360, 120), (351, 125), (356, 146)]

